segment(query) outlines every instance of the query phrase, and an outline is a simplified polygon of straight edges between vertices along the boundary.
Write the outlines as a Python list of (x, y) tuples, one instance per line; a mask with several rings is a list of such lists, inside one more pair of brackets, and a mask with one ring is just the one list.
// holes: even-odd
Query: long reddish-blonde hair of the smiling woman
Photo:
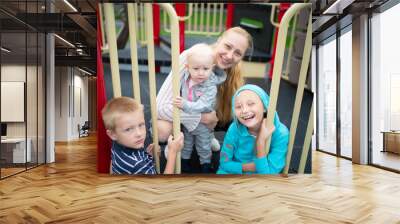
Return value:
[[(230, 29), (225, 30), (221, 36), (218, 38), (220, 41), (224, 38), (228, 33), (235, 32), (244, 36), (248, 41), (248, 46), (246, 49), (246, 53), (253, 51), (253, 38), (251, 35), (241, 27), (232, 27)], [(217, 94), (217, 117), (219, 122), (223, 125), (227, 124), (232, 120), (232, 97), (235, 94), (236, 90), (238, 90), (243, 84), (244, 79), (241, 71), (241, 62), (232, 66), (231, 68), (225, 69), (227, 74), (226, 80), (224, 83), (218, 86), (218, 94)]]

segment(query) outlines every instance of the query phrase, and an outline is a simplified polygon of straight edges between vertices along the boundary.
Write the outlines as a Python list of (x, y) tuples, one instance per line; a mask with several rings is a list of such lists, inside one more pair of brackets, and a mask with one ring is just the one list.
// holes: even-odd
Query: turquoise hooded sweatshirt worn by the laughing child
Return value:
[[(289, 131), (279, 121), (275, 113), (275, 131), (272, 133), (270, 151), (266, 157), (257, 158), (255, 153), (256, 138), (248, 132), (246, 126), (241, 124), (235, 116), (235, 98), (243, 90), (255, 92), (264, 104), (265, 111), (269, 105), (269, 96), (256, 85), (247, 84), (236, 91), (232, 97), (232, 114), (234, 121), (224, 138), (220, 153), (220, 162), (217, 174), (278, 174), (285, 167)], [(255, 172), (243, 172), (242, 164), (254, 162)]]

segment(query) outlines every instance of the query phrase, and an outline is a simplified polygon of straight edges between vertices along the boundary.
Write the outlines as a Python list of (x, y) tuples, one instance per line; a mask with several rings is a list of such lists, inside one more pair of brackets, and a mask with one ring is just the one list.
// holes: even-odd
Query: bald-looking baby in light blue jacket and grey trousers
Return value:
[[(185, 113), (203, 113), (214, 110), (217, 85), (225, 81), (213, 73), (215, 56), (207, 44), (196, 44), (190, 48), (187, 55), (186, 71), (181, 79), (181, 95), (173, 100), (173, 105)], [(193, 131), (182, 128), (185, 135), (184, 147), (181, 153), (182, 171), (190, 172), (190, 156), (193, 144), (196, 145), (200, 158), (202, 173), (211, 172), (211, 142), (214, 135), (204, 124), (200, 123)], [(217, 146), (219, 150), (219, 146)]]

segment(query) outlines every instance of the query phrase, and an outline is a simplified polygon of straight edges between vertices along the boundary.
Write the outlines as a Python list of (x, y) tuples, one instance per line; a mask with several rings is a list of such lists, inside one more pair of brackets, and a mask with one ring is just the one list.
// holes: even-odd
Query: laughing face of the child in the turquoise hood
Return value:
[(234, 103), (235, 115), (239, 122), (252, 134), (258, 133), (264, 118), (264, 104), (260, 97), (251, 90), (243, 90), (236, 96)]

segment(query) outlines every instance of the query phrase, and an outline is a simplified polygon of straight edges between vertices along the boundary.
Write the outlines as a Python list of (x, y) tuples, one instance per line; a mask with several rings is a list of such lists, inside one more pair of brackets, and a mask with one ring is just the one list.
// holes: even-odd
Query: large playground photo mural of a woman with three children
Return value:
[(311, 173), (310, 3), (98, 7), (98, 172)]

